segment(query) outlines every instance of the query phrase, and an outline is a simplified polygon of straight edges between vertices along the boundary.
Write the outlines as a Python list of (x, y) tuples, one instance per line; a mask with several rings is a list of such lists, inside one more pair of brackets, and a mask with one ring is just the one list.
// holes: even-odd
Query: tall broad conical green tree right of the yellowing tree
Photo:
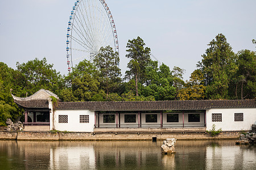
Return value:
[(197, 67), (204, 74), (207, 99), (227, 99), (230, 78), (236, 73), (236, 56), (221, 33), (210, 41)]

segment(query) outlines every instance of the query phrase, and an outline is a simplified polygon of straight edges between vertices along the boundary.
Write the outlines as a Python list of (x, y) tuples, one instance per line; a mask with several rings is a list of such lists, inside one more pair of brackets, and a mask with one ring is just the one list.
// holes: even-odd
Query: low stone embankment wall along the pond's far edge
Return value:
[(0, 131), (0, 141), (209, 141), (238, 139), (241, 131), (222, 131), (212, 137), (204, 132), (173, 133), (83, 133), (68, 131)]

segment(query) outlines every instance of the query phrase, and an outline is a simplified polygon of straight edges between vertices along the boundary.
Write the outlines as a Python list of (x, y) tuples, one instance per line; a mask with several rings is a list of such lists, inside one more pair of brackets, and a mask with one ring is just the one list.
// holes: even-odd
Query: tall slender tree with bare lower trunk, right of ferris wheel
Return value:
[(126, 78), (133, 78), (135, 80), (135, 94), (138, 96), (138, 82), (142, 82), (146, 75), (146, 67), (150, 62), (150, 48), (144, 48), (144, 41), (141, 37), (137, 39), (129, 40), (127, 42), (126, 54), (127, 58), (130, 58), (130, 62), (127, 65)]

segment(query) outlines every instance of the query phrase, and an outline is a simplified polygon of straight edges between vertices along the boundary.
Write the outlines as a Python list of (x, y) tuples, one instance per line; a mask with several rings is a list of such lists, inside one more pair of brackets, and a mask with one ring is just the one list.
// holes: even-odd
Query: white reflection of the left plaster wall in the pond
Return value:
[(93, 146), (61, 146), (50, 150), (50, 169), (95, 169)]

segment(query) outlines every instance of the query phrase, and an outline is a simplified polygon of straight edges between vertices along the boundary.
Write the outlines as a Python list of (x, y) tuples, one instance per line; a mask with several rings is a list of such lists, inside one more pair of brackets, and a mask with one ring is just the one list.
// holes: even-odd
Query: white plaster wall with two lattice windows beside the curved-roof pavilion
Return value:
[[(59, 115), (68, 115), (67, 124), (59, 124)], [(80, 123), (80, 115), (89, 115), (89, 123)], [(94, 112), (88, 110), (56, 110), (54, 113), (55, 130), (92, 132)]]

